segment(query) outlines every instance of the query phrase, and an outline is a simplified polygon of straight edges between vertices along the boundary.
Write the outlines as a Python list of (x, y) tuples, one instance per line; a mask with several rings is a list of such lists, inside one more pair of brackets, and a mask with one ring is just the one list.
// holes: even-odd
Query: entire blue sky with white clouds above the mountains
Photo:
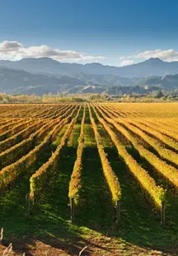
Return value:
[(178, 61), (177, 10), (177, 0), (0, 0), (0, 59)]

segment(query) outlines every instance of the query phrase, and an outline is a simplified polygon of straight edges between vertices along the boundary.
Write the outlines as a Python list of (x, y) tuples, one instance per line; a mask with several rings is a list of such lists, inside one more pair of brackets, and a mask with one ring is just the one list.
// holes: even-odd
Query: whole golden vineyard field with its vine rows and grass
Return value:
[(0, 254), (178, 255), (177, 130), (178, 103), (0, 105)]

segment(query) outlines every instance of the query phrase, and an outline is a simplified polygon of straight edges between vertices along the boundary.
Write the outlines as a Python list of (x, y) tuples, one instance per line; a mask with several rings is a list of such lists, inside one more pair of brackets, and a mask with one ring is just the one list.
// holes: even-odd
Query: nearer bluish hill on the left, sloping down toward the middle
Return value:
[[(15, 70), (12, 68), (0, 68), (0, 91), (6, 93), (26, 93), (34, 91), (33, 88), (38, 88), (37, 94), (60, 92), (63, 85), (76, 86), (83, 85), (85, 82), (70, 76), (47, 76), (41, 74), (28, 73), (24, 70)], [(44, 89), (45, 88), (45, 89)], [(55, 88), (55, 89), (54, 89)], [(67, 88), (68, 89), (68, 88)], [(62, 89), (63, 91), (64, 89)], [(35, 90), (36, 91), (36, 90)]]

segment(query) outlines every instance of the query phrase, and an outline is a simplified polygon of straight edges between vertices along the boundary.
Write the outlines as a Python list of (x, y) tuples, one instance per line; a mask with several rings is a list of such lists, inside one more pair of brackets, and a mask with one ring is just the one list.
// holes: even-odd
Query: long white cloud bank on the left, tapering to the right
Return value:
[(75, 50), (59, 50), (47, 45), (24, 47), (16, 41), (0, 43), (0, 59), (19, 60), (23, 58), (48, 57), (58, 61), (89, 61), (97, 62), (106, 59), (104, 56), (90, 56)]

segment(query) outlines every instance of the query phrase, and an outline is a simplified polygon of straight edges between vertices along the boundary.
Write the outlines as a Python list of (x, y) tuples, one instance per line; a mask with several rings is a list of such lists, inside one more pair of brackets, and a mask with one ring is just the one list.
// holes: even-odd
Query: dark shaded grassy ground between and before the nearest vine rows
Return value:
[[(159, 216), (145, 202), (142, 194), (119, 159), (114, 148), (105, 148), (113, 171), (122, 187), (122, 224), (116, 226), (115, 209), (95, 147), (83, 154), (81, 206), (76, 223), (70, 223), (68, 184), (76, 160), (76, 148), (66, 147), (56, 174), (50, 178), (42, 198), (36, 201), (30, 220), (25, 220), (25, 194), (29, 189), (26, 177), (16, 183), (0, 200), (0, 226), (4, 226), (4, 244), (13, 243), (15, 252), (26, 256), (36, 254), (36, 243), (42, 250), (58, 249), (63, 255), (123, 255), (124, 252), (145, 253), (158, 250), (178, 255), (177, 197), (168, 194), (167, 226), (160, 226)], [(39, 254), (40, 255), (40, 254)], [(56, 254), (57, 255), (57, 254)], [(60, 254), (59, 254), (60, 255)], [(62, 254), (61, 254), (62, 255)]]

